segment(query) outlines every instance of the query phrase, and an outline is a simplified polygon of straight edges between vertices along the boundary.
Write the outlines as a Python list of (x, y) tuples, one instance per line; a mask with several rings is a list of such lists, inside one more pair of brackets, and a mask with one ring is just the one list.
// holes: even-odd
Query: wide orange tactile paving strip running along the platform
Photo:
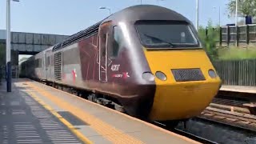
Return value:
[[(46, 98), (49, 98), (54, 104), (61, 107), (64, 110), (70, 111), (70, 113), (74, 114), (78, 118), (81, 118), (82, 121), (90, 124), (98, 134), (101, 134), (102, 137), (108, 139), (113, 143), (143, 143), (137, 138), (131, 137), (128, 134), (123, 133), (121, 130), (117, 130), (113, 126), (110, 126), (106, 122), (103, 122), (101, 119), (96, 118), (94, 115), (88, 114), (86, 111), (81, 110), (77, 106), (70, 104), (70, 102), (66, 102), (53, 94), (50, 94), (48, 91), (43, 90), (42, 88), (35, 86), (32, 82), (28, 82), (28, 85), (32, 86), (34, 89), (38, 90), (39, 94), (42, 94)], [(125, 125), (125, 123), (124, 123)]]

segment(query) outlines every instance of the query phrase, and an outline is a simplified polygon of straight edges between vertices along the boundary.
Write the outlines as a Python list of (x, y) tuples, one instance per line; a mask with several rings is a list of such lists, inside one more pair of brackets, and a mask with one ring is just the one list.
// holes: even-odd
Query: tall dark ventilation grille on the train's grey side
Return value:
[(54, 54), (54, 77), (56, 80), (62, 80), (62, 52)]

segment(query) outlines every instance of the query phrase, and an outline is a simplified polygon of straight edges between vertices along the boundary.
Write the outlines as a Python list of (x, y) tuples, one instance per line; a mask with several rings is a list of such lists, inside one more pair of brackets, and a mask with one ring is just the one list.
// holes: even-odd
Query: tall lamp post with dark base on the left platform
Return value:
[[(19, 2), (19, 0), (12, 0)], [(11, 63), (10, 63), (10, 0), (6, 0), (6, 87), (11, 92)]]

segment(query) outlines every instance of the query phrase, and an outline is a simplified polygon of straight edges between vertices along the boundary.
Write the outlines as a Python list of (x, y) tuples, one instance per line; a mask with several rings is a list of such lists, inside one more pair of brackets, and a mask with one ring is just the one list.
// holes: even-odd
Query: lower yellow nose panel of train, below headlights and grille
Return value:
[(217, 83), (158, 85), (150, 119), (165, 121), (194, 117), (210, 104), (217, 91)]

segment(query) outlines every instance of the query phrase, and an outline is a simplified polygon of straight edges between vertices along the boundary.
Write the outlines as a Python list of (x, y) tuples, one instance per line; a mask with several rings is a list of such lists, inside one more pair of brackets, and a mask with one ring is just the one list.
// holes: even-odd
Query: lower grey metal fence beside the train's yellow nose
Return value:
[(256, 59), (218, 61), (214, 66), (223, 85), (256, 86)]

